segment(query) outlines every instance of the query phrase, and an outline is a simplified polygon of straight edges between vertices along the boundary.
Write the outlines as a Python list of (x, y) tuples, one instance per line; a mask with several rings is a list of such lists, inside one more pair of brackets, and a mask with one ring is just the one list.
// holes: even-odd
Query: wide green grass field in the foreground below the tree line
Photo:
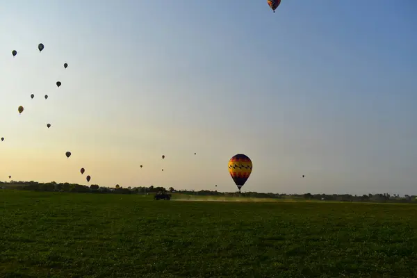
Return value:
[(0, 277), (416, 277), (417, 206), (0, 190)]

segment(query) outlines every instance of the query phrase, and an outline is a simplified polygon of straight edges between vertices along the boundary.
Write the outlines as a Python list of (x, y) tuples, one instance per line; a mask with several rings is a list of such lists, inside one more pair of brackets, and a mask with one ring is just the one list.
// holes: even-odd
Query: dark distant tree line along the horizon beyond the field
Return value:
[(15, 188), (22, 190), (34, 190), (34, 191), (56, 191), (56, 192), (68, 192), (68, 193), (113, 193), (113, 194), (153, 194), (158, 192), (170, 192), (181, 193), (186, 195), (199, 195), (199, 196), (222, 196), (222, 197), (251, 197), (251, 198), (272, 198), (272, 199), (306, 199), (317, 201), (342, 201), (342, 202), (398, 202), (398, 203), (416, 203), (416, 195), (404, 195), (397, 194), (390, 195), (389, 193), (368, 194), (368, 195), (350, 195), (350, 194), (286, 194), (286, 193), (259, 193), (259, 192), (219, 192), (217, 190), (175, 190), (170, 187), (168, 189), (162, 186), (138, 186), (127, 187), (116, 185), (114, 188), (99, 186), (98, 184), (92, 184), (90, 186), (84, 186), (78, 183), (56, 183), (51, 181), (49, 183), (39, 183), (37, 181), (0, 181), (0, 188)]

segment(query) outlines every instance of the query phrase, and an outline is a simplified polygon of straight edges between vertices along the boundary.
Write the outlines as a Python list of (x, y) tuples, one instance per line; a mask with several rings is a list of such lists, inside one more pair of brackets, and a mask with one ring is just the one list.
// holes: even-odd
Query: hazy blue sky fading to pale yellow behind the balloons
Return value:
[(1, 0), (0, 180), (231, 192), (246, 154), (243, 191), (417, 194), (416, 12)]

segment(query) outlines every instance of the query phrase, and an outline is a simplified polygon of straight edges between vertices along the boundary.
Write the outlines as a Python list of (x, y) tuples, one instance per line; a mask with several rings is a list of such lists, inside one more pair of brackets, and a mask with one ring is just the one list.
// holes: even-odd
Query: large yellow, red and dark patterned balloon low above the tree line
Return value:
[(236, 154), (229, 160), (229, 173), (231, 178), (238, 186), (239, 193), (240, 188), (245, 184), (252, 172), (252, 161), (245, 154)]

